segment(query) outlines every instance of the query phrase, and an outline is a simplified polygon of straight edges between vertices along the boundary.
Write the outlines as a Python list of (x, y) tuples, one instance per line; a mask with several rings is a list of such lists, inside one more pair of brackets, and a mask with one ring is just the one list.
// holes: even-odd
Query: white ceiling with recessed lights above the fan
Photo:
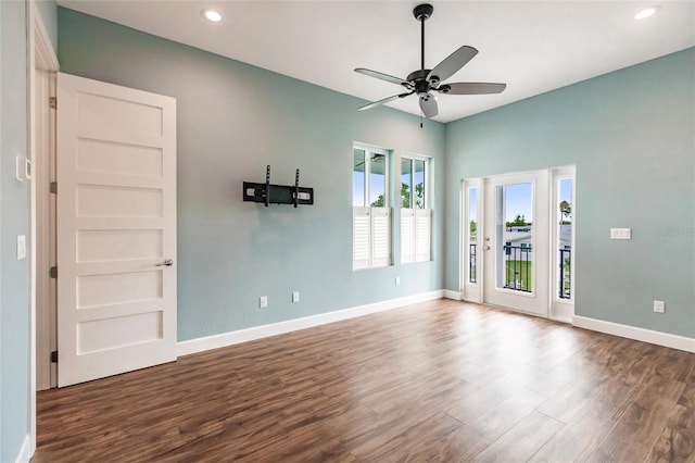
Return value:
[[(480, 53), (452, 82), (501, 82), (492, 96), (439, 96), (448, 122), (695, 46), (695, 2), (431, 1), (426, 67), (462, 45)], [(405, 78), (420, 65), (419, 1), (58, 0), (62, 7), (208, 50), (369, 101), (402, 87), (353, 72)], [(211, 23), (205, 8), (224, 18)], [(419, 114), (417, 98), (390, 107)]]

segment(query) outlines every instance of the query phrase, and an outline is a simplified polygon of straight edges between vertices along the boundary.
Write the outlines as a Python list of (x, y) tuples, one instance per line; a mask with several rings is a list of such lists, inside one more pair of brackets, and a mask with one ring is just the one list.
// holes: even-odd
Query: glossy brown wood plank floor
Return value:
[(38, 395), (42, 462), (695, 462), (695, 354), (438, 300)]

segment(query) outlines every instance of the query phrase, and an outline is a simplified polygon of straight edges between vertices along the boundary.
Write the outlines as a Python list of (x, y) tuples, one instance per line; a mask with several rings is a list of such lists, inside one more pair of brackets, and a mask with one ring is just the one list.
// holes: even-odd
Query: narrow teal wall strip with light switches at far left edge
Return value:
[(0, 461), (13, 462), (28, 433), (29, 262), (16, 236), (29, 236), (29, 184), (15, 179), (27, 154), (27, 4), (0, 2)]

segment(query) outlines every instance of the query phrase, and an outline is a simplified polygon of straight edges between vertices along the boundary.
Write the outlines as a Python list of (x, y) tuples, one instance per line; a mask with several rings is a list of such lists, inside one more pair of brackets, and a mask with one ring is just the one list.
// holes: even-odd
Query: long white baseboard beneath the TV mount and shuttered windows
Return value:
[(355, 308), (343, 309), (334, 312), (326, 312), (318, 315), (288, 320), (270, 325), (254, 326), (251, 328), (239, 329), (237, 331), (223, 333), (220, 335), (206, 336), (203, 338), (180, 341), (176, 346), (176, 354), (178, 356), (189, 355), (191, 353), (233, 346), (255, 339), (267, 338), (285, 333), (296, 331), (299, 329), (311, 328), (314, 326), (326, 325), (328, 323), (340, 322), (343, 320), (355, 318), (357, 316), (397, 309), (404, 305), (416, 304), (418, 302), (441, 299), (443, 292), (443, 290), (424, 292), (420, 295), (390, 299), (382, 302), (375, 302), (372, 304), (358, 305)]

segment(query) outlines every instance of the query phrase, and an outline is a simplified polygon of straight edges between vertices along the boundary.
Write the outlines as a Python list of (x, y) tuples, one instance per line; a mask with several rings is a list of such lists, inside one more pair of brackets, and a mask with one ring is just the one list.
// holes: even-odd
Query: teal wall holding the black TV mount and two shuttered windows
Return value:
[[(65, 73), (177, 99), (179, 340), (443, 287), (442, 124), (358, 112), (356, 98), (62, 8), (59, 61)], [(401, 265), (396, 253), (394, 266), (353, 272), (353, 141), (395, 150), (393, 165), (402, 152), (433, 157), (433, 262)], [(316, 203), (242, 202), (242, 183), (263, 182), (266, 164), (280, 185), (301, 168)]]

